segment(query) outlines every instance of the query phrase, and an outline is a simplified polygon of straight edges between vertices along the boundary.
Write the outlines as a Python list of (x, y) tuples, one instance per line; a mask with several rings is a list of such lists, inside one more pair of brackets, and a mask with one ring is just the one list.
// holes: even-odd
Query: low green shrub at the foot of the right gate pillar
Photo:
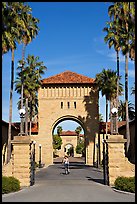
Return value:
[(135, 176), (134, 177), (119, 176), (116, 178), (114, 186), (118, 190), (135, 193)]

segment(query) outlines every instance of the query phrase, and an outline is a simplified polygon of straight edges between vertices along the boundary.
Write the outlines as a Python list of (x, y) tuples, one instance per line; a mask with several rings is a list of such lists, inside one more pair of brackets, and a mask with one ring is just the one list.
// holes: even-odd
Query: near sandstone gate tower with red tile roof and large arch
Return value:
[(37, 145), (42, 145), (42, 162), (46, 165), (53, 163), (52, 135), (63, 120), (73, 120), (82, 126), (86, 146), (85, 163), (93, 165), (94, 139), (99, 132), (99, 93), (94, 81), (71, 71), (41, 81), (42, 88), (38, 90), (39, 131), (33, 139)]

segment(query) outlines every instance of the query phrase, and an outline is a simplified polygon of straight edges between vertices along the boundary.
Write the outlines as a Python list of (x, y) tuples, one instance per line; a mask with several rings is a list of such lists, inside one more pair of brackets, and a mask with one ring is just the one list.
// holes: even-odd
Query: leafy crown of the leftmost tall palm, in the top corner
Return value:
[(22, 7), (21, 2), (2, 2), (2, 54), (16, 49), (16, 43), (20, 43), (18, 14)]

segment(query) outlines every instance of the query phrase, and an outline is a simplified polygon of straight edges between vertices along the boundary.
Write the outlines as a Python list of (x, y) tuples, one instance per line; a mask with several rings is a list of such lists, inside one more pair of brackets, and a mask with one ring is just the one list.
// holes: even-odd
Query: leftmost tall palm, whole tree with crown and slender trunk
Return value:
[(20, 42), (19, 28), (20, 21), (18, 13), (22, 9), (23, 3), (20, 2), (2, 2), (2, 53), (12, 52), (11, 62), (11, 88), (10, 88), (10, 107), (9, 107), (9, 128), (8, 128), (8, 147), (7, 147), (7, 163), (11, 157), (11, 122), (12, 122), (12, 98), (14, 83), (14, 50), (16, 43)]

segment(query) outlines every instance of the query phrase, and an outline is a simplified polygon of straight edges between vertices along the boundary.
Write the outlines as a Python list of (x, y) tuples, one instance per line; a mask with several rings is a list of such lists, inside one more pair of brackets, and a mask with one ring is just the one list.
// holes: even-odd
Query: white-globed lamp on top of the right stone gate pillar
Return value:
[(117, 112), (117, 108), (112, 108), (111, 134), (118, 134)]

